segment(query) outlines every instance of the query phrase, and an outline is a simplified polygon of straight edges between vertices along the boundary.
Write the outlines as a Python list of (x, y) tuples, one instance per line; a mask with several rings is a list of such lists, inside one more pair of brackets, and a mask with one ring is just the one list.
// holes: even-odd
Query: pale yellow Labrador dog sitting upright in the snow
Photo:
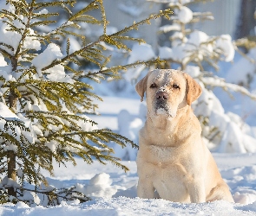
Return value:
[(200, 85), (179, 70), (156, 69), (135, 89), (141, 101), (146, 92), (148, 107), (136, 159), (138, 197), (152, 199), (157, 192), (159, 198), (174, 202), (233, 202), (191, 108)]

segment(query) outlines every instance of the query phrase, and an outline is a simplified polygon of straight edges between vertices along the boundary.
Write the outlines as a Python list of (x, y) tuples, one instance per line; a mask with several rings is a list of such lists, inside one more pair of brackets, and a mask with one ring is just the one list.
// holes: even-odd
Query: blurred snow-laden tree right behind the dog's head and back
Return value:
[(203, 93), (194, 104), (194, 110), (200, 118), (202, 135), (210, 149), (219, 152), (254, 151), (256, 146), (252, 143), (255, 139), (250, 137), (252, 131), (245, 133), (243, 120), (233, 113), (225, 113), (220, 100), (213, 93), (213, 88), (220, 87), (230, 94), (241, 92), (249, 98), (256, 98), (246, 88), (227, 83), (216, 73), (220, 61), (233, 60), (236, 46), (230, 35), (209, 36), (193, 29), (195, 22), (213, 20), (210, 12), (195, 13), (190, 9), (190, 4), (203, 2), (206, 1), (165, 1), (167, 7), (174, 10), (174, 16), (160, 28), (162, 34), (170, 35), (170, 42), (159, 48), (160, 58), (167, 62), (159, 67), (181, 69), (200, 82)]

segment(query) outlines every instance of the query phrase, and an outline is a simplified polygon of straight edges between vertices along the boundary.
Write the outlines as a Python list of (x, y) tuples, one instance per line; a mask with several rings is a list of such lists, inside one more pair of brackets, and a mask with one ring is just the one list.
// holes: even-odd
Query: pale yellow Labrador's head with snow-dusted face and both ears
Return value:
[(192, 77), (173, 69), (150, 71), (135, 88), (141, 101), (146, 92), (150, 115), (172, 118), (179, 108), (191, 105), (201, 93), (199, 84)]

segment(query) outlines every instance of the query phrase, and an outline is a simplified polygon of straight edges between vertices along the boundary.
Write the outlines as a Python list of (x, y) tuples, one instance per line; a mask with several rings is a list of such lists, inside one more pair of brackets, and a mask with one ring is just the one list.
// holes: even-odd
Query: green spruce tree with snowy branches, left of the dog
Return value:
[[(95, 113), (95, 95), (84, 80), (108, 77), (120, 78), (119, 71), (128, 67), (160, 64), (161, 61), (135, 62), (126, 66), (108, 67), (111, 56), (104, 54), (107, 43), (118, 49), (129, 50), (126, 42), (143, 42), (128, 37), (128, 31), (150, 23), (151, 19), (168, 16), (169, 10), (135, 22), (112, 35), (107, 35), (107, 17), (102, 0), (91, 1), (85, 8), (72, 12), (75, 1), (26, 1), (7, 0), (1, 3), (0, 18), (0, 93), (2, 109), (1, 131), (1, 203), (6, 201), (36, 201), (37, 194), (48, 198), (47, 205), (58, 204), (60, 200), (88, 200), (86, 194), (79, 194), (75, 187), (47, 187), (41, 174), (46, 169), (53, 174), (52, 162), (73, 162), (75, 156), (84, 162), (94, 160), (112, 162), (128, 170), (112, 155), (109, 142), (125, 147), (135, 143), (111, 130), (98, 130), (96, 123), (86, 114)], [(50, 9), (66, 11), (67, 20), (56, 27), (55, 17), (60, 14)], [(89, 12), (99, 10), (101, 19), (90, 16)], [(102, 25), (102, 35), (95, 41), (87, 41), (84, 35), (76, 33), (82, 22)], [(39, 27), (49, 27), (47, 31)], [(69, 36), (81, 42), (79, 50), (70, 50)], [(66, 54), (62, 54), (58, 40), (66, 41)], [(3, 60), (4, 58), (4, 60)], [(82, 62), (90, 62), (94, 71), (77, 69)], [(83, 80), (83, 81), (82, 81)], [(26, 187), (27, 184), (33, 185)], [(34, 200), (26, 200), (30, 193)]]

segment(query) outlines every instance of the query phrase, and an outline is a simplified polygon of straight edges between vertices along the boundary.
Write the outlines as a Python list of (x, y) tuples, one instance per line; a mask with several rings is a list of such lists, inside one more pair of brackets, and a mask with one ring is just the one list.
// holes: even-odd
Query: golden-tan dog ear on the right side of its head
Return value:
[(183, 73), (187, 80), (187, 105), (191, 105), (194, 100), (199, 98), (202, 89), (200, 85), (187, 73)]

